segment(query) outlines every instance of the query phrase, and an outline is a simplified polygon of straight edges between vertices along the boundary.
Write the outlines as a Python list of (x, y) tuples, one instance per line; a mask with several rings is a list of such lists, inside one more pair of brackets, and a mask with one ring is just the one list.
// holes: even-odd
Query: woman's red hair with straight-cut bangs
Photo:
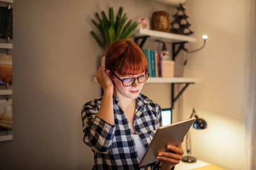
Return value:
[(105, 67), (120, 75), (137, 75), (146, 71), (147, 59), (134, 41), (118, 40), (106, 51)]

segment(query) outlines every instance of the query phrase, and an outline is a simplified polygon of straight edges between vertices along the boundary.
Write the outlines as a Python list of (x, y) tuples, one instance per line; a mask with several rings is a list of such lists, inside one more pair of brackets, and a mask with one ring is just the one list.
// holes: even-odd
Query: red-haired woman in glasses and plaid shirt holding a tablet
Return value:
[[(94, 152), (93, 169), (173, 169), (184, 151), (159, 152), (159, 161), (138, 167), (156, 129), (162, 126), (160, 106), (140, 92), (148, 78), (147, 60), (133, 41), (115, 41), (97, 81), (104, 95), (82, 107), (84, 142)], [(172, 168), (173, 167), (173, 168)]]

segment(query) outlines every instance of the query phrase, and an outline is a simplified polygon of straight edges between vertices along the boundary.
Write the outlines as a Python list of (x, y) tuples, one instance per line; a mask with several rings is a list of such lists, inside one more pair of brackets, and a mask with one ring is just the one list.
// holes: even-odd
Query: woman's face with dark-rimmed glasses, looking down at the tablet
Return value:
[[(144, 73), (138, 74), (138, 75), (119, 75), (117, 72), (114, 73), (117, 75), (120, 79), (126, 79), (126, 78), (137, 78), (138, 76), (143, 75)], [(141, 93), (142, 87), (144, 86), (144, 83), (139, 83), (138, 80), (135, 80), (134, 84), (129, 87), (124, 87), (121, 80), (113, 76), (114, 80), (114, 92), (115, 97), (126, 97), (129, 99), (137, 99), (139, 94)]]

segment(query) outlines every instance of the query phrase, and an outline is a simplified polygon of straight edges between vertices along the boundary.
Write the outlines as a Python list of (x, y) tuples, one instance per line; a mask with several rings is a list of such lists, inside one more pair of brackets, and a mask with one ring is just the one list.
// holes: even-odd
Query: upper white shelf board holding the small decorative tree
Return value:
[(195, 37), (178, 35), (176, 33), (168, 33), (162, 31), (135, 29), (133, 32), (136, 36), (150, 36), (151, 40), (162, 40), (165, 42), (196, 42)]

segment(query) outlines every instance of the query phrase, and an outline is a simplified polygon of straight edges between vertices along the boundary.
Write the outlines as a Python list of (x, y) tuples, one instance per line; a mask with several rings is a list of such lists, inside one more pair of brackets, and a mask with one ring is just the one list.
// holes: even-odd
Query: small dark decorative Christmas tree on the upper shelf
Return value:
[(188, 16), (185, 14), (185, 8), (182, 4), (180, 4), (179, 7), (177, 7), (177, 12), (174, 16), (174, 21), (171, 22), (171, 33), (177, 33), (181, 35), (190, 35), (193, 32), (188, 27), (191, 26), (191, 24), (188, 23), (187, 18)]

